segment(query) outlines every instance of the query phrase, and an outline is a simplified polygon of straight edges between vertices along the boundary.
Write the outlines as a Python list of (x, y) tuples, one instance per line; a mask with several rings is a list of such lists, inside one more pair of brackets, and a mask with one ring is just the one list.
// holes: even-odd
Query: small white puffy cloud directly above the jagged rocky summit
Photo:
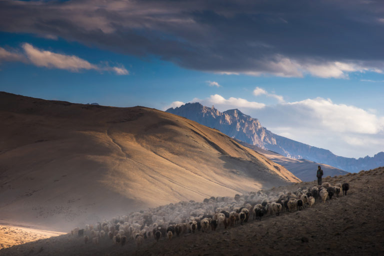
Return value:
[(239, 107), (263, 108), (265, 106), (264, 103), (248, 101), (243, 98), (229, 97), (226, 99), (219, 94), (210, 95), (205, 99), (193, 98), (190, 102), (200, 102), (203, 105), (208, 105), (208, 106), (215, 105), (215, 106), (218, 106), (219, 108), (226, 108), (226, 109), (239, 108)]

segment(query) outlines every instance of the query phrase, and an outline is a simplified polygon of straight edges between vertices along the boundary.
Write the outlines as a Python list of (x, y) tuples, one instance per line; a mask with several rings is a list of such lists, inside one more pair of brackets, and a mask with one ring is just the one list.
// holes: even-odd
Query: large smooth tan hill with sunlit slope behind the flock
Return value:
[(56, 227), (300, 181), (218, 130), (147, 107), (0, 92), (0, 219)]

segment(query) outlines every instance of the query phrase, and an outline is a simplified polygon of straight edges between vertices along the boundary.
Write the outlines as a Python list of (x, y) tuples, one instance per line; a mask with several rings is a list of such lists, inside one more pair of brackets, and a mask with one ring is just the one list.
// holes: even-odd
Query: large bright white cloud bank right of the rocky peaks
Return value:
[(330, 149), (337, 155), (373, 156), (384, 151), (382, 143), (374, 142), (384, 142), (384, 116), (372, 109), (317, 97), (240, 110), (258, 118), (264, 127), (276, 134)]

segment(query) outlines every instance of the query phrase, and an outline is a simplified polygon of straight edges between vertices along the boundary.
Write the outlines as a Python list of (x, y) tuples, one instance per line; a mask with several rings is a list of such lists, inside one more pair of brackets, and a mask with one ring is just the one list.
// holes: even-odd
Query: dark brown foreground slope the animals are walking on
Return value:
[[(1, 249), (0, 255), (384, 255), (384, 167), (325, 177), (325, 181), (349, 183), (348, 194), (242, 226), (186, 233), (172, 240), (145, 240), (139, 248), (132, 240), (124, 246), (113, 245), (107, 238), (99, 244), (84, 244), (82, 237), (65, 234), (25, 240), (27, 243)], [(293, 191), (314, 184), (272, 189)]]

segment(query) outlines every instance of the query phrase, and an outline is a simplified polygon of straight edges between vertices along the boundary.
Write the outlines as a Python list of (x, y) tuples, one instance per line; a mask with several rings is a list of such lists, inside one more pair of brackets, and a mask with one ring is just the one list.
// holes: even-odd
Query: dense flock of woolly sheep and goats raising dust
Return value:
[(315, 200), (325, 202), (332, 196), (346, 195), (348, 183), (331, 185), (323, 182), (313, 187), (300, 187), (296, 191), (283, 190), (278, 193), (259, 190), (247, 195), (234, 197), (210, 197), (203, 202), (180, 201), (146, 211), (131, 212), (108, 221), (87, 224), (85, 228), (76, 227), (72, 235), (81, 236), (84, 243), (98, 244), (110, 239), (114, 244), (124, 245), (134, 240), (140, 246), (144, 239), (160, 237), (171, 239), (182, 233), (196, 231), (209, 232), (217, 227), (243, 225), (250, 217), (261, 220), (266, 215), (279, 215), (283, 211), (301, 210), (311, 207)]

